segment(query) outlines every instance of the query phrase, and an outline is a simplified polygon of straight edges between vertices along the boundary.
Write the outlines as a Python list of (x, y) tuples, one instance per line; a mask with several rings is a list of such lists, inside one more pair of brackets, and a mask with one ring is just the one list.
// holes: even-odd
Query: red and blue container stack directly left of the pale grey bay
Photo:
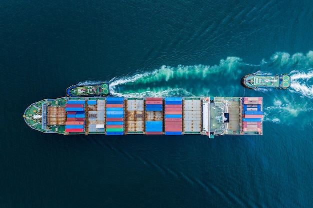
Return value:
[(165, 98), (165, 135), (182, 135), (182, 98)]

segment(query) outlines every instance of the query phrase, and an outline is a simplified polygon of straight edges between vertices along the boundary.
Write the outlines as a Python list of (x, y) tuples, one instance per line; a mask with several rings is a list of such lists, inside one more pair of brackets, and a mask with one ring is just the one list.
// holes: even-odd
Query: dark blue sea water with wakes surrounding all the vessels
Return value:
[[(1, 208), (311, 208), (311, 0), (0, 0)], [(248, 73), (290, 73), (249, 90)], [(25, 108), (78, 82), (117, 96), (262, 96), (263, 136), (62, 136)]]

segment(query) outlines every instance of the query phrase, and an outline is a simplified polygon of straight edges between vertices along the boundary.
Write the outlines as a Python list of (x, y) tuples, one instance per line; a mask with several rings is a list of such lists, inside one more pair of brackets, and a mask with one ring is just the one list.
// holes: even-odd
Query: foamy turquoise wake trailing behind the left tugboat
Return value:
[[(219, 65), (161, 66), (150, 72), (115, 78), (110, 81), (110, 92), (115, 96), (199, 96), (234, 92), (230, 83), (239, 79), (245, 64), (238, 57), (222, 59)], [(227, 85), (227, 87), (225, 87)], [(240, 86), (237, 86), (240, 87)], [(225, 92), (223, 88), (227, 88)]]

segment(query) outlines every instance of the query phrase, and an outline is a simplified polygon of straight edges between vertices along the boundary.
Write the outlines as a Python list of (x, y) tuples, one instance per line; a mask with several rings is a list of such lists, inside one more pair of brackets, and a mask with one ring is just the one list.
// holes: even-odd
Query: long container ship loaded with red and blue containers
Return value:
[(63, 135), (262, 135), (262, 97), (61, 97), (32, 103), (26, 124)]

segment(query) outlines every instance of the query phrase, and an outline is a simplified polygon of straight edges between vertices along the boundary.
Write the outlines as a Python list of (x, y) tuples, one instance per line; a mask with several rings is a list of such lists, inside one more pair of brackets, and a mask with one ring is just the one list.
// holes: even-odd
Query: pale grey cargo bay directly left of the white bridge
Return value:
[(200, 98), (183, 100), (183, 133), (200, 134), (202, 131), (202, 102)]

